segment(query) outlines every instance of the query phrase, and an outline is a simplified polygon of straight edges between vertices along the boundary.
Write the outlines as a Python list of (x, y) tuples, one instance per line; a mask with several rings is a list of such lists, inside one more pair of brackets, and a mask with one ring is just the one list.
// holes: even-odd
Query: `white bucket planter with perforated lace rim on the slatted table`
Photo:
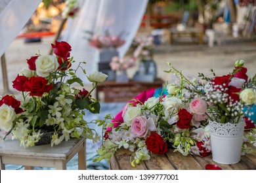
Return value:
[(238, 124), (210, 121), (209, 125), (213, 161), (222, 164), (238, 163), (242, 153), (244, 120)]

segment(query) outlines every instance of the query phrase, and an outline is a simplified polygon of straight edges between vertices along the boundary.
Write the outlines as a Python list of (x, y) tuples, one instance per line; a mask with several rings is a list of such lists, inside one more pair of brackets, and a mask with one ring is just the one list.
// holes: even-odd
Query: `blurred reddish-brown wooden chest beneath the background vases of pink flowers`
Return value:
[(162, 88), (163, 80), (160, 78), (154, 82), (137, 82), (129, 80), (127, 83), (119, 83), (115, 81), (106, 81), (96, 86), (96, 99), (100, 99), (100, 92), (104, 94), (104, 102), (128, 102), (139, 93), (151, 89)]

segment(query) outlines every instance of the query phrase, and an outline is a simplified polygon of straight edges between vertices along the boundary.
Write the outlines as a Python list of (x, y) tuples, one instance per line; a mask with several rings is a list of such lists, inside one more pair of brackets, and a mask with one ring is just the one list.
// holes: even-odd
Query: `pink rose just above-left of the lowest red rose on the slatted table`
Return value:
[(148, 133), (148, 120), (144, 116), (139, 116), (131, 122), (131, 132), (137, 137), (146, 137)]

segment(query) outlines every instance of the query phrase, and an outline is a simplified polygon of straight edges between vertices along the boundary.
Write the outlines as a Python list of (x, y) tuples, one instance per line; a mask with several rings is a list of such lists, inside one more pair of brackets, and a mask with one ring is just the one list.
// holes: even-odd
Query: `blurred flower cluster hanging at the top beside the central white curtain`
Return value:
[(62, 10), (63, 18), (74, 18), (79, 11), (79, 3), (77, 0), (65, 0), (65, 7)]

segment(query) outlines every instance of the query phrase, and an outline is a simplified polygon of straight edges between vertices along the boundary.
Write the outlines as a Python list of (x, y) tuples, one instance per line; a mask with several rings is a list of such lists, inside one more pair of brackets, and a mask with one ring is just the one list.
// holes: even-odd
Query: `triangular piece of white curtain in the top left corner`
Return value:
[(20, 33), (42, 0), (0, 0), (0, 56)]

